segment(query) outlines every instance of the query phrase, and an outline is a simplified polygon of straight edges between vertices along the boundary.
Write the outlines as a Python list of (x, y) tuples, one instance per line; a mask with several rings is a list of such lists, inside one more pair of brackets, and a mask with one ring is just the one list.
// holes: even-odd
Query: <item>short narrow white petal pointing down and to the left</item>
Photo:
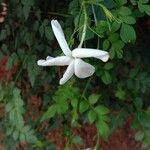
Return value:
[(74, 74), (74, 60), (67, 67), (63, 77), (60, 79), (59, 84), (66, 83)]

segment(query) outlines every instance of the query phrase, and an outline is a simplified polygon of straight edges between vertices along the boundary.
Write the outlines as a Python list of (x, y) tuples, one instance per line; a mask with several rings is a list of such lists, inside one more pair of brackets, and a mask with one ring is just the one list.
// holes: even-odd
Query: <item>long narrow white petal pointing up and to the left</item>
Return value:
[(71, 56), (71, 50), (66, 42), (66, 39), (65, 39), (65, 36), (64, 36), (63, 30), (62, 30), (60, 24), (58, 23), (57, 20), (52, 20), (51, 25), (52, 25), (52, 29), (55, 34), (55, 37), (56, 37), (62, 51), (64, 52), (64, 54), (66, 56)]

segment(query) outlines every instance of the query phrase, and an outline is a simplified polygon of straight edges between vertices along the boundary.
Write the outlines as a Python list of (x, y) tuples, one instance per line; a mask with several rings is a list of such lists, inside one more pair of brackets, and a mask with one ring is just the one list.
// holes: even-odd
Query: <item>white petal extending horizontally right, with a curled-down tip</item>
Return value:
[(78, 58), (95, 57), (103, 62), (106, 62), (109, 59), (108, 52), (90, 48), (76, 48), (72, 51), (72, 56)]

